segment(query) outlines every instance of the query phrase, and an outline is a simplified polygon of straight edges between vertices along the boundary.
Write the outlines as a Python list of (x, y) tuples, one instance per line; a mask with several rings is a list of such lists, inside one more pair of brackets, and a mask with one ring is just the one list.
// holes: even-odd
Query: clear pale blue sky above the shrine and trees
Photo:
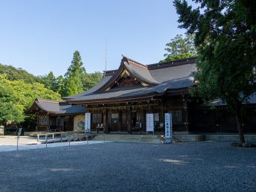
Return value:
[(86, 71), (118, 68), (121, 54), (158, 63), (178, 28), (172, 0), (0, 0), (0, 63), (65, 74), (75, 50)]

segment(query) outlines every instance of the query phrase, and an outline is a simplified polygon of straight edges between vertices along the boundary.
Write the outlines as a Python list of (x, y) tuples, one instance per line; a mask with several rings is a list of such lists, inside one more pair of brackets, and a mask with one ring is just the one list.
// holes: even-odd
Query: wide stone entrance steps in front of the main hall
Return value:
[(161, 144), (161, 135), (98, 134), (94, 141)]

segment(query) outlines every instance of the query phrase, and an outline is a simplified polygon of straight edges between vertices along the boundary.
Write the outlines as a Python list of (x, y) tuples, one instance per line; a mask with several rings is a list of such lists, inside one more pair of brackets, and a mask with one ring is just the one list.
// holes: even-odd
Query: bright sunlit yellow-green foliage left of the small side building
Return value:
[(36, 97), (60, 100), (60, 95), (41, 83), (25, 83), (23, 80), (7, 80), (0, 74), (0, 124), (19, 124), (26, 118), (28, 109)]

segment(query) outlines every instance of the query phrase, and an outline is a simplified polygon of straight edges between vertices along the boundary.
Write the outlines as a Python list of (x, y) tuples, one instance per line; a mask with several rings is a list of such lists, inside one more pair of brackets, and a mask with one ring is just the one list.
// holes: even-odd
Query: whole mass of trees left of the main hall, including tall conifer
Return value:
[(78, 51), (67, 73), (55, 77), (53, 72), (35, 77), (22, 69), (0, 64), (0, 124), (28, 123), (33, 118), (25, 115), (36, 97), (61, 100), (60, 96), (75, 95), (95, 86), (100, 72), (87, 74)]

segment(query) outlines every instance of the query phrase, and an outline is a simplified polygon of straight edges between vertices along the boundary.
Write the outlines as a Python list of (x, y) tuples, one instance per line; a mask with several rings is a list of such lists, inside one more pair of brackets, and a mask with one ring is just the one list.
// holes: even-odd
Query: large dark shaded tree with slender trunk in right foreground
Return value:
[(234, 113), (244, 143), (240, 109), (256, 90), (256, 1), (173, 1), (180, 27), (195, 33), (199, 51), (197, 91), (205, 100), (220, 97)]

